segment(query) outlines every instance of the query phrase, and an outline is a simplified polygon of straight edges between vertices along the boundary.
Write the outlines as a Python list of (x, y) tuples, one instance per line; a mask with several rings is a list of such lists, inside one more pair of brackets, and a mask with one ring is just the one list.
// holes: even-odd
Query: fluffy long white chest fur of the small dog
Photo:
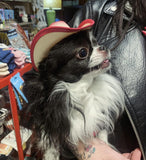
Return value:
[(68, 105), (71, 123), (70, 141), (76, 144), (79, 140), (85, 142), (93, 138), (93, 132), (99, 133), (113, 130), (114, 122), (124, 108), (124, 94), (120, 83), (112, 76), (96, 72), (86, 74), (76, 83), (59, 82), (54, 92), (67, 90), (71, 103), (79, 109)]

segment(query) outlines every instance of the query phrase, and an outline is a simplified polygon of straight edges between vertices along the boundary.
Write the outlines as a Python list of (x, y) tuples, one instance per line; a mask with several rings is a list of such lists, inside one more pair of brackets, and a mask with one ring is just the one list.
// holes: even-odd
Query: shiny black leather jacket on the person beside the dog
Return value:
[[(114, 0), (89, 0), (69, 24), (77, 27), (82, 20), (93, 19), (98, 43), (112, 48), (117, 41), (115, 34), (110, 34), (115, 5)], [(126, 14), (124, 18), (128, 20)], [(117, 123), (113, 143), (126, 152), (126, 147), (137, 147), (137, 140), (146, 160), (146, 39), (136, 23), (131, 24), (124, 40), (111, 54), (111, 73), (120, 79), (126, 95), (126, 114)]]

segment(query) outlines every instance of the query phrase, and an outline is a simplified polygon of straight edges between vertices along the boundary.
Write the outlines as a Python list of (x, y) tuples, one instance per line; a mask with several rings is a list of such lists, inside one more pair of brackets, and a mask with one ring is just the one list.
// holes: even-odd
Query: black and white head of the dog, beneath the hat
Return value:
[(110, 54), (99, 46), (91, 31), (81, 31), (56, 44), (39, 65), (39, 72), (65, 82), (78, 81), (83, 75), (105, 72)]

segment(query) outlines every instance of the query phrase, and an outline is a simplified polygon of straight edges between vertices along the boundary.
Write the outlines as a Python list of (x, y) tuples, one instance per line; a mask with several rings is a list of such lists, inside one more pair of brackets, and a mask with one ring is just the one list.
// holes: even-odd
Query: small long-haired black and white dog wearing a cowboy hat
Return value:
[(43, 160), (65, 157), (65, 149), (96, 137), (108, 143), (115, 120), (124, 110), (119, 81), (106, 73), (110, 52), (99, 46), (90, 30), (58, 42), (24, 76), (32, 124)]

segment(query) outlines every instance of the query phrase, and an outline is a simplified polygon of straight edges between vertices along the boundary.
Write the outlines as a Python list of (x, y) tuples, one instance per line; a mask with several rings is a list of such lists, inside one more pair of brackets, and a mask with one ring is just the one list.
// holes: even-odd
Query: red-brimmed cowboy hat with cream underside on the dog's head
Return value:
[(86, 19), (80, 23), (78, 28), (69, 27), (64, 21), (52, 23), (49, 27), (40, 30), (31, 44), (31, 61), (35, 70), (38, 70), (39, 62), (47, 57), (49, 50), (64, 38), (90, 29), (94, 24), (92, 19)]

